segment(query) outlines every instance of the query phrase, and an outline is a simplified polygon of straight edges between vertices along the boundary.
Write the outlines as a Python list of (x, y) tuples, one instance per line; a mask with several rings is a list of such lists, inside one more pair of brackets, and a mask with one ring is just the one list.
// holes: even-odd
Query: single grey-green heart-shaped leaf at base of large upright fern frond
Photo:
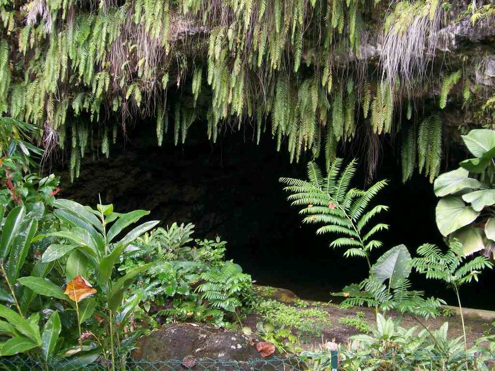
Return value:
[(378, 258), (371, 273), (373, 279), (380, 283), (388, 279), (390, 287), (395, 288), (402, 279), (409, 277), (411, 269), (411, 254), (405, 245), (398, 245)]

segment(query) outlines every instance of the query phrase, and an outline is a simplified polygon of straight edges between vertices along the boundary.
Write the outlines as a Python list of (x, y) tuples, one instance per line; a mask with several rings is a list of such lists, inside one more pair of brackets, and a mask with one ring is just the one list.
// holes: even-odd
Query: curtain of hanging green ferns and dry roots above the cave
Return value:
[[(449, 20), (448, 4), (4, 0), (0, 111), (38, 127), (48, 150), (70, 152), (72, 177), (90, 147), (109, 156), (137, 116), (156, 117), (159, 145), (167, 134), (184, 142), (204, 120), (213, 141), (227, 128), (252, 124), (257, 142), (268, 132), (291, 159), (307, 151), (330, 162), (337, 143), (360, 127), (378, 135), (401, 131), (401, 101), (407, 137), (418, 132), (421, 109), (413, 112), (409, 98), (418, 90), (436, 93), (424, 71)], [(185, 43), (184, 35), (191, 36)], [(385, 40), (378, 69), (366, 63), (363, 46), (371, 39)], [(460, 74), (440, 84), (442, 75), (435, 85), (442, 85), (444, 107)], [(177, 90), (183, 96), (174, 97)], [(359, 121), (360, 108), (369, 123)], [(114, 120), (104, 120), (108, 113)], [(432, 126), (441, 136), (441, 123)], [(432, 155), (440, 161), (441, 151)], [(414, 161), (405, 158), (408, 178)], [(433, 166), (427, 176), (437, 172)]]

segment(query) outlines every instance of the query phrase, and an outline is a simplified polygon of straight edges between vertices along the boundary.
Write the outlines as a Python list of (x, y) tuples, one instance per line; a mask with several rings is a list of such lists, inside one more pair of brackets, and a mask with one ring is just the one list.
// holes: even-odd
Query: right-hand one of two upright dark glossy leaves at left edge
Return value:
[(7, 277), (10, 282), (15, 282), (17, 277), (19, 277), (19, 272), (24, 265), (29, 246), (31, 245), (31, 239), (37, 230), (38, 221), (36, 219), (27, 220), (21, 225), (17, 236), (14, 238), (8, 258)]

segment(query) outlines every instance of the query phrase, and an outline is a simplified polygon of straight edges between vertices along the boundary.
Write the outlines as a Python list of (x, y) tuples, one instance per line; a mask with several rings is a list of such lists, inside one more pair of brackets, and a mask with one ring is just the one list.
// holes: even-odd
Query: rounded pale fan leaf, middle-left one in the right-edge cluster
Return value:
[(447, 236), (474, 222), (479, 215), (480, 213), (467, 206), (461, 197), (447, 196), (437, 204), (437, 227), (442, 235)]

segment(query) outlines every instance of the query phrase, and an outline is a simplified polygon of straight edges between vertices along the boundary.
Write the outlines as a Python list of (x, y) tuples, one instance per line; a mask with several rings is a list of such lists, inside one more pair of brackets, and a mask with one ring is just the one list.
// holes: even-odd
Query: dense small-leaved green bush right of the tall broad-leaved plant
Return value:
[(226, 242), (219, 237), (196, 239), (191, 246), (193, 229), (192, 224), (174, 223), (138, 238), (124, 253), (119, 270), (155, 262), (132, 292), (142, 292), (143, 298), (152, 301), (148, 311), (152, 309), (149, 313), (157, 319), (227, 326), (249, 307), (251, 278), (239, 265), (224, 261)]

